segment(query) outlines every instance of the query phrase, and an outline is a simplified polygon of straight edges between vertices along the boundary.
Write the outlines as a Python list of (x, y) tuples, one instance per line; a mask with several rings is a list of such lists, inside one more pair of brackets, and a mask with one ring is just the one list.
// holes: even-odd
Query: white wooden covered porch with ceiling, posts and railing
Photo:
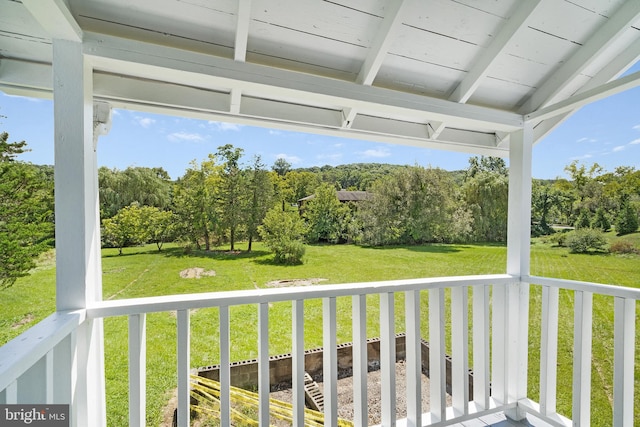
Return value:
[[(640, 58), (636, 0), (0, 0), (0, 12), (0, 90), (54, 99), (57, 250), (57, 311), (0, 348), (0, 403), (70, 404), (71, 425), (106, 425), (103, 319), (127, 316), (129, 424), (145, 425), (146, 316), (175, 311), (177, 341), (167, 351), (177, 354), (178, 425), (190, 425), (190, 312), (216, 308), (220, 421), (230, 425), (229, 335), (237, 326), (229, 310), (254, 305), (259, 422), (269, 425), (268, 308), (287, 302), (293, 425), (302, 426), (305, 302), (319, 299), (325, 424), (337, 425), (337, 301), (348, 299), (354, 424), (366, 425), (365, 319), (373, 297), (383, 426), (481, 425), (496, 414), (514, 423), (590, 425), (595, 297), (615, 312), (603, 326), (614, 334), (610, 424), (634, 424), (640, 290), (531, 276), (530, 206), (534, 144), (580, 107), (640, 84), (637, 73), (621, 77)], [(104, 301), (95, 147), (114, 107), (508, 158), (504, 274)], [(561, 292), (571, 306), (562, 306)], [(541, 312), (530, 313), (532, 295), (540, 296)], [(427, 308), (424, 411), (417, 380)], [(556, 411), (558, 313), (566, 309), (574, 313), (571, 419)], [(533, 316), (542, 324), (537, 378), (528, 369)], [(401, 420), (399, 317), (412, 373)], [(539, 384), (536, 401), (531, 382)]]

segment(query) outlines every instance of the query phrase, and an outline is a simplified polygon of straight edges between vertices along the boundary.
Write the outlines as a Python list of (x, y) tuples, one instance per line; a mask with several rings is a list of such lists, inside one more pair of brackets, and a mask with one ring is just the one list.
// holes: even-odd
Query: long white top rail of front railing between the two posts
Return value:
[(405, 292), (457, 286), (478, 286), (518, 281), (508, 274), (435, 277), (382, 282), (315, 285), (296, 288), (256, 289), (229, 292), (167, 295), (147, 298), (100, 301), (87, 309), (87, 317), (100, 318), (160, 311), (187, 310), (256, 303), (273, 303), (324, 297), (344, 297), (385, 292)]

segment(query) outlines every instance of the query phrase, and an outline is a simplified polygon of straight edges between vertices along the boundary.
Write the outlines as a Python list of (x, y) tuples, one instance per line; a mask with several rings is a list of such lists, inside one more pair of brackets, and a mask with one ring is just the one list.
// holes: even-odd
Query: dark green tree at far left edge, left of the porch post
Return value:
[(53, 182), (16, 160), (26, 143), (0, 133), (0, 289), (28, 274), (53, 238)]

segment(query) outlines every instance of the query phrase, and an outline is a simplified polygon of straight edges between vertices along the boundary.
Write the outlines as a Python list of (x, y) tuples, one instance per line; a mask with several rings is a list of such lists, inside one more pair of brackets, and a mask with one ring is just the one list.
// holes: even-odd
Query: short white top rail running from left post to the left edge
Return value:
[(4, 390), (86, 319), (84, 310), (53, 313), (0, 347), (0, 390)]

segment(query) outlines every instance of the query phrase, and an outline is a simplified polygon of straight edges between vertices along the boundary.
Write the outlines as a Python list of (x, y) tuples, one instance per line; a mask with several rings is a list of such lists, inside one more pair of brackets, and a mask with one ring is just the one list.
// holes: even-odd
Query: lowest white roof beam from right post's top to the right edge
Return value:
[(626, 77), (613, 80), (609, 83), (605, 83), (602, 86), (581, 92), (577, 95), (570, 96), (560, 102), (549, 105), (548, 107), (542, 108), (538, 111), (534, 111), (531, 114), (527, 114), (524, 118), (527, 122), (546, 120), (563, 113), (577, 110), (587, 104), (624, 92), (628, 89), (633, 89), (637, 86), (640, 86), (640, 71)]

